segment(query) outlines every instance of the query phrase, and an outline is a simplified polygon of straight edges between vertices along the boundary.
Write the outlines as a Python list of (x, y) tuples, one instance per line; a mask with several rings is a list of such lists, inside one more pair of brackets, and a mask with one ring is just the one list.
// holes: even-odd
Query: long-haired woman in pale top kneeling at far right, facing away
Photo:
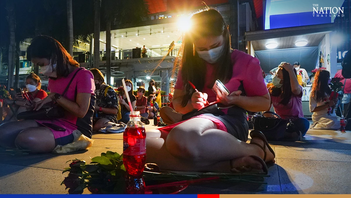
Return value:
[(336, 116), (332, 107), (337, 104), (338, 99), (330, 98), (332, 90), (328, 86), (330, 73), (327, 70), (318, 70), (314, 75), (310, 95), (310, 111), (312, 114), (313, 129), (337, 130), (340, 128), (340, 117)]

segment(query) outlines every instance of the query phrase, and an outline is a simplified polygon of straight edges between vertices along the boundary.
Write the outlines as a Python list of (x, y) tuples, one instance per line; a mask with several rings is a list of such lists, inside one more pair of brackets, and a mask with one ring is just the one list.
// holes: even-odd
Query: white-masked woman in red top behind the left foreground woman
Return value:
[[(31, 73), (26, 77), (26, 88), (28, 91), (26, 94), (32, 103), (39, 102), (47, 96), (47, 93), (40, 89), (41, 82), (39, 76), (35, 75), (34, 73)], [(26, 108), (31, 108), (31, 103), (21, 94), (15, 95), (14, 100), (6, 99), (6, 102), (7, 104), (13, 105), (13, 109), (16, 110), (16, 114), (26, 111)], [(12, 111), (9, 111), (4, 119), (4, 122), (8, 121), (17, 121), (16, 116), (13, 116)]]

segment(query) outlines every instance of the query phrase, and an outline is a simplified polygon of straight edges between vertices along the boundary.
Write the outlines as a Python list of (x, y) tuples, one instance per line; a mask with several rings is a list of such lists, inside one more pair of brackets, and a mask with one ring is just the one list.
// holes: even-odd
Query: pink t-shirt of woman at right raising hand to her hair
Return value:
[(304, 117), (304, 113), (302, 112), (302, 87), (299, 95), (292, 94), (289, 103), (286, 105), (279, 103), (282, 101), (280, 96), (272, 96), (271, 101), (274, 107), (274, 111), (278, 114), (282, 119), (288, 120), (289, 118), (297, 119), (299, 117)]

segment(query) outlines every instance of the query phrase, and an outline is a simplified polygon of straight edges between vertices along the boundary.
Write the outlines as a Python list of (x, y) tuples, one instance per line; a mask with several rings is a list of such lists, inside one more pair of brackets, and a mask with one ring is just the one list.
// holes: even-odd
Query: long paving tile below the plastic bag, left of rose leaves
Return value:
[(67, 154), (28, 154), (25, 156), (16, 155), (16, 156), (5, 156), (1, 155), (2, 164), (13, 164), (20, 166), (29, 166), (29, 167), (38, 167), (38, 168), (47, 168), (53, 170), (64, 170), (68, 167), (66, 161), (73, 159), (85, 160), (87, 163), (90, 163), (90, 159), (96, 156), (100, 156), (101, 153), (106, 151), (113, 151), (122, 153), (123, 148), (101, 148), (101, 147), (91, 147), (85, 151), (77, 151)]

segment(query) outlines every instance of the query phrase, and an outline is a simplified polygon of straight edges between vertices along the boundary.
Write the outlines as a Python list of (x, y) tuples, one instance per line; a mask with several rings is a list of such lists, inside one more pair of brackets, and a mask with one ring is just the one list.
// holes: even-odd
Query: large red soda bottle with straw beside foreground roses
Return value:
[(126, 193), (144, 194), (143, 171), (146, 161), (146, 132), (140, 111), (133, 111), (123, 133), (123, 164), (126, 168)]

